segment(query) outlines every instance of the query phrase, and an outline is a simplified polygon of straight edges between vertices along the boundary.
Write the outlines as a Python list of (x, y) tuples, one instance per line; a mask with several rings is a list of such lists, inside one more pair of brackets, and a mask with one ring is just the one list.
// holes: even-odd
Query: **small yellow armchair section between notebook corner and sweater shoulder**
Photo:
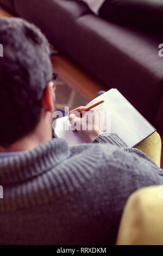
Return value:
[(158, 132), (154, 132), (151, 136), (138, 144), (136, 148), (140, 149), (143, 153), (149, 156), (153, 162), (160, 167), (161, 138)]

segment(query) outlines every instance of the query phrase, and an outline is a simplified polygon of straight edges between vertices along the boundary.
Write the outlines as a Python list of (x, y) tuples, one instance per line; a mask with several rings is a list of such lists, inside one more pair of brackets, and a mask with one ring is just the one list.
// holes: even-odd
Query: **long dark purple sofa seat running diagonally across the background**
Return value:
[[(35, 23), (49, 41), (108, 88), (117, 88), (163, 129), (163, 57), (159, 33), (116, 25), (76, 0), (0, 0)], [(1, 42), (0, 42), (1, 43)]]

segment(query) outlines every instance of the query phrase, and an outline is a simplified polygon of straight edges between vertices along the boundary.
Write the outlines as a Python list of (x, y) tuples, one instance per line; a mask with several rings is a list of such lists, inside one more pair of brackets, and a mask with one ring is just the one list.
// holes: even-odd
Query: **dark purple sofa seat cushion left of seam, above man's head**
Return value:
[(91, 13), (86, 3), (76, 0), (15, 0), (15, 9), (18, 15), (35, 23), (49, 41), (63, 50), (71, 48), (74, 21)]

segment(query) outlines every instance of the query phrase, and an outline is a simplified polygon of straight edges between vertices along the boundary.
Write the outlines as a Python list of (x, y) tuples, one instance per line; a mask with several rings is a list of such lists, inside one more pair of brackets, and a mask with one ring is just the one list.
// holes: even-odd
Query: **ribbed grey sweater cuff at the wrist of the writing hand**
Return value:
[(92, 143), (110, 143), (112, 145), (117, 145), (119, 148), (127, 148), (127, 144), (122, 141), (116, 133), (105, 132), (97, 136)]

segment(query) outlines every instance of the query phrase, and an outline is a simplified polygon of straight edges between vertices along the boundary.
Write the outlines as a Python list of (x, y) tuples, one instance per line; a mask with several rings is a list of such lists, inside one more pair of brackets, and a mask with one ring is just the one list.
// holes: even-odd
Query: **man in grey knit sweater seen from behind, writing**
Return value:
[(94, 124), (79, 131), (90, 143), (52, 139), (55, 85), (45, 36), (21, 19), (1, 19), (0, 42), (0, 243), (114, 244), (128, 197), (162, 184), (162, 170)]

